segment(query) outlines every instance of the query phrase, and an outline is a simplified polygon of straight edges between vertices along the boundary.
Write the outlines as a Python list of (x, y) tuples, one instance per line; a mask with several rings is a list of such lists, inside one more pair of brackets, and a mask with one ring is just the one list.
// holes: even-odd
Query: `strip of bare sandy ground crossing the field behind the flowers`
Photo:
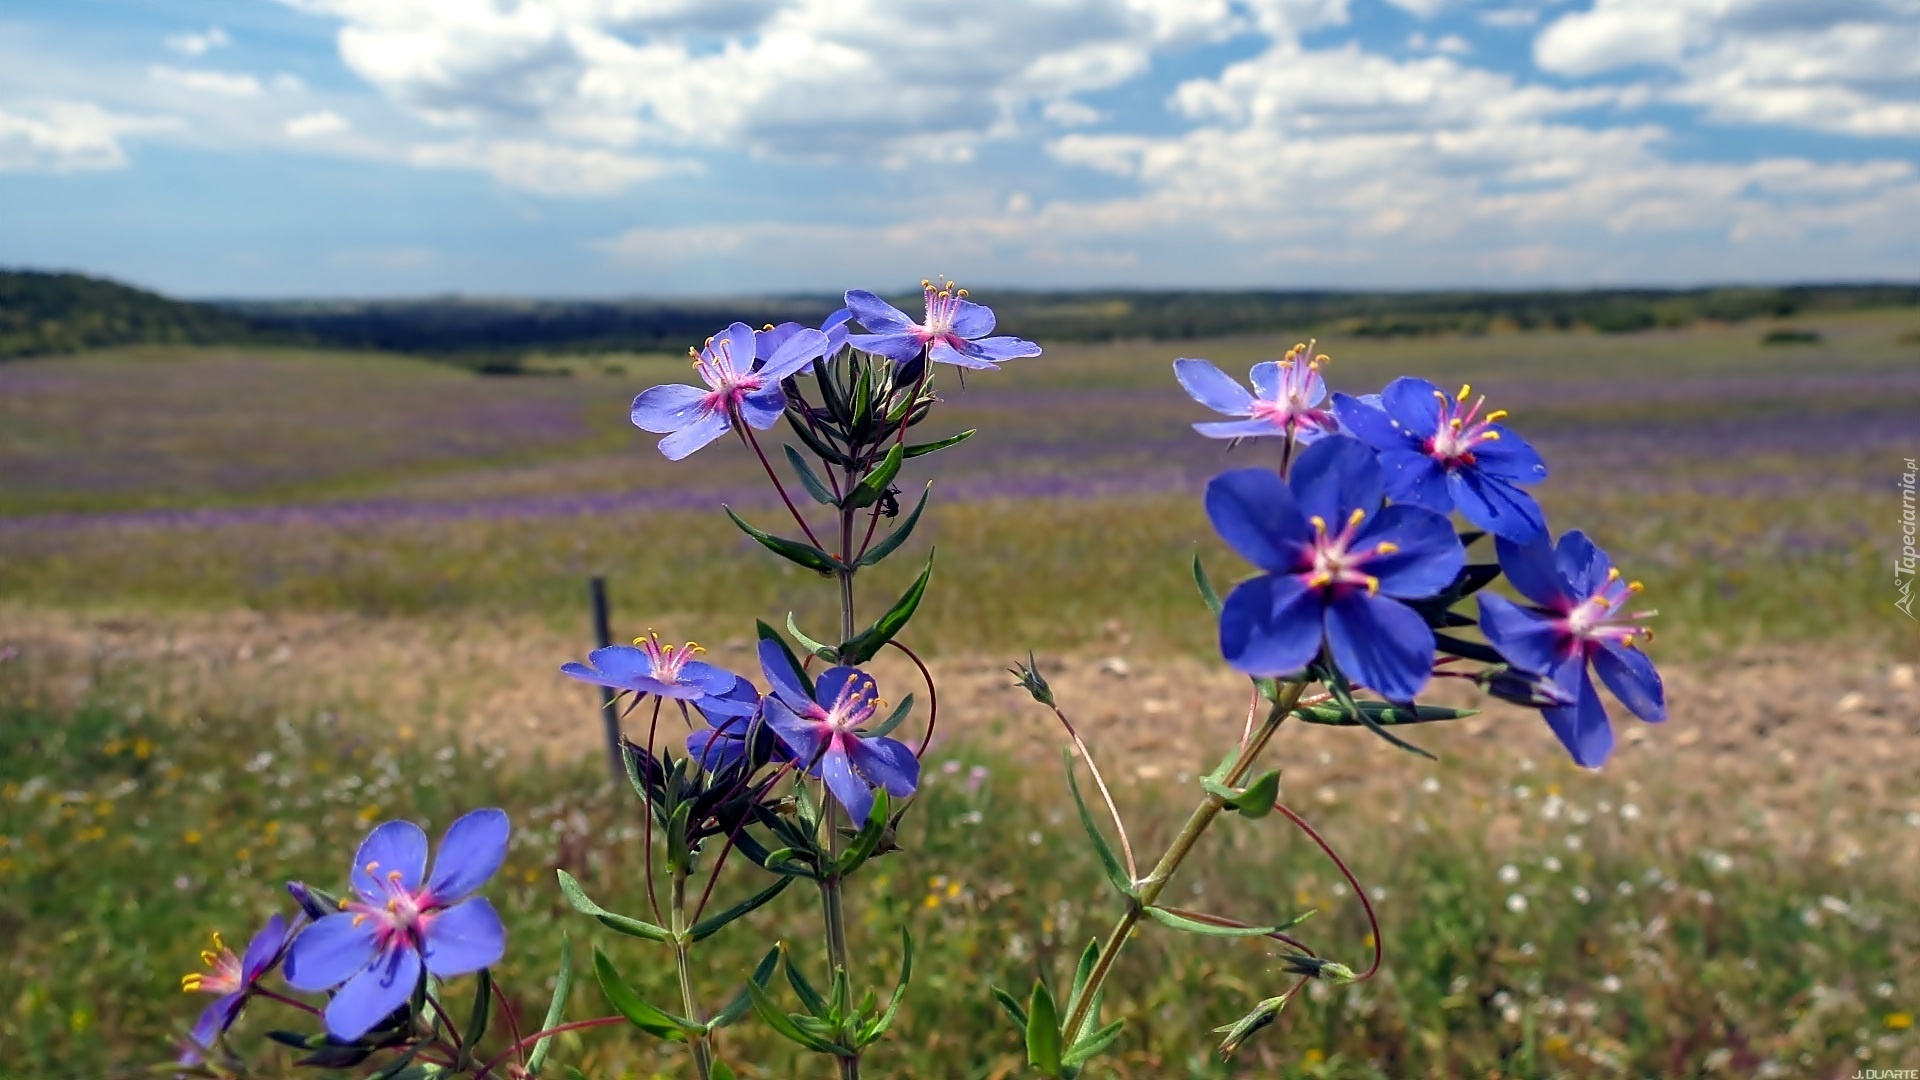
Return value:
[[(747, 640), (710, 646), (708, 659), (755, 667)], [(505, 744), (516, 755), (570, 757), (601, 744), (597, 696), (557, 675), (582, 642), (541, 623), (434, 623), (351, 615), (121, 613), (79, 615), (0, 605), (0, 655), (31, 669), (56, 696), (136, 673), (144, 694), (175, 709), (267, 707), (332, 711), (388, 724), (403, 738)], [(1050, 759), (1064, 742), (1054, 719), (1006, 675), (1010, 657), (935, 657), (939, 732), (987, 740), (1016, 759)], [(1202, 773), (1238, 736), (1246, 682), (1221, 665), (1129, 650), (1043, 655), (1060, 705), (1081, 726), (1116, 784)], [(900, 653), (874, 665), (887, 698), (925, 690)], [(1565, 763), (1546, 724), (1482, 701), (1471, 684), (1440, 680), (1434, 701), (1484, 713), (1404, 734), (1442, 765), (1402, 753), (1363, 730), (1302, 724), (1273, 761), (1300, 792), (1404, 790), (1434, 771), (1471, 769), (1490, 782), (1540, 771), (1582, 788), (1661, 792), (1649, 805), (1688, 822), (1743, 822), (1793, 846), (1836, 828), (1920, 836), (1920, 678), (1910, 663), (1841, 650), (1755, 650), (1713, 663), (1663, 663), (1672, 717), (1642, 724), (1615, 709), (1619, 749), (1603, 773)], [(920, 713), (924, 715), (924, 713)], [(1903, 844), (1910, 847), (1912, 844)]]

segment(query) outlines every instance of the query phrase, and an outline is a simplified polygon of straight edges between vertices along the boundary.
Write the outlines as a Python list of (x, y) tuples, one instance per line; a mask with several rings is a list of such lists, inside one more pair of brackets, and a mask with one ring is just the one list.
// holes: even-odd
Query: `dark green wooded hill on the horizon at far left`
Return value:
[(0, 271), (0, 359), (123, 344), (250, 340), (219, 307), (167, 300), (77, 273)]

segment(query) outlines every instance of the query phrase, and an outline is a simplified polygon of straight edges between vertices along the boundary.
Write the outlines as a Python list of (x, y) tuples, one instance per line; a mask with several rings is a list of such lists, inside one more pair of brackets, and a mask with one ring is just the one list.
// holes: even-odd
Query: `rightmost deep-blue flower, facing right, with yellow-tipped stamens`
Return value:
[(1626, 711), (1647, 723), (1667, 719), (1661, 673), (1636, 648), (1653, 638), (1644, 625), (1653, 611), (1626, 609), (1640, 582), (1620, 580), (1613, 559), (1580, 530), (1561, 536), (1559, 548), (1544, 536), (1496, 548), (1501, 573), (1532, 605), (1482, 594), (1480, 632), (1507, 663), (1551, 678), (1572, 700), (1540, 715), (1576, 765), (1597, 769), (1613, 751), (1613, 726), (1588, 665)]

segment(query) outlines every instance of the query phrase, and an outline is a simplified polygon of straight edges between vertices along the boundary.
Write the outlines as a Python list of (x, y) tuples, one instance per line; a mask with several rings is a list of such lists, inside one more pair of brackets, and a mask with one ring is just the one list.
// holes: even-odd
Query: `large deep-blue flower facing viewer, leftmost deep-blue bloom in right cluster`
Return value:
[(1356, 684), (1411, 701), (1432, 676), (1434, 634), (1402, 600), (1434, 596), (1467, 553), (1444, 517), (1382, 503), (1361, 442), (1309, 446), (1290, 480), (1267, 469), (1213, 477), (1213, 528), (1263, 573), (1227, 596), (1219, 650), (1254, 676), (1300, 675), (1325, 646)]

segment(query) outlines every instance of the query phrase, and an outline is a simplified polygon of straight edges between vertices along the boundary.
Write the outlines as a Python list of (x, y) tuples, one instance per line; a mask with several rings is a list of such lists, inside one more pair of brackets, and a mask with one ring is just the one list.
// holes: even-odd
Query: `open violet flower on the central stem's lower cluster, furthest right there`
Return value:
[(774, 728), (808, 773), (826, 780), (858, 828), (874, 809), (874, 786), (906, 798), (920, 786), (920, 759), (906, 744), (887, 736), (862, 736), (874, 719), (879, 692), (874, 676), (856, 667), (829, 667), (818, 686), (793, 671), (778, 642), (760, 642), (760, 669), (772, 692), (760, 703)]

